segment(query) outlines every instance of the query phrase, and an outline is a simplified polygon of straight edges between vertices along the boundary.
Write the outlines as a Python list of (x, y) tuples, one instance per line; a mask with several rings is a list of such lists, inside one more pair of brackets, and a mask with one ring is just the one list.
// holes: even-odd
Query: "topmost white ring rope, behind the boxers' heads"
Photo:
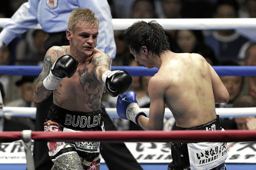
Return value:
[[(10, 18), (0, 18), (0, 27), (8, 23)], [(256, 18), (149, 18), (130, 19), (113, 18), (113, 29), (123, 30), (137, 20), (156, 20), (164, 29), (253, 29), (256, 28)], [(35, 28), (41, 28), (38, 24)]]

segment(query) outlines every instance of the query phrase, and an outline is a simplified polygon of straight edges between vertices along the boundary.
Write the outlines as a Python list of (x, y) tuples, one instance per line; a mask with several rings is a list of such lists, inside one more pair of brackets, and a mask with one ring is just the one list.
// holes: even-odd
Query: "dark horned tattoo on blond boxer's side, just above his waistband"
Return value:
[(98, 92), (96, 94), (90, 94), (88, 90), (86, 89), (86, 94), (89, 96), (87, 106), (88, 108), (92, 109), (93, 111), (97, 111), (100, 108), (100, 91), (97, 88)]

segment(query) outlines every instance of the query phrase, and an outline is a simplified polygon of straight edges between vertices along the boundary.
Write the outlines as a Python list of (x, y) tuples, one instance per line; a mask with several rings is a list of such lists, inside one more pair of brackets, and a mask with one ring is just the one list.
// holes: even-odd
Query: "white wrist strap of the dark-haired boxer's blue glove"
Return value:
[(139, 115), (146, 117), (146, 114), (141, 111), (137, 103), (130, 103), (126, 108), (126, 118), (138, 125), (137, 118)]

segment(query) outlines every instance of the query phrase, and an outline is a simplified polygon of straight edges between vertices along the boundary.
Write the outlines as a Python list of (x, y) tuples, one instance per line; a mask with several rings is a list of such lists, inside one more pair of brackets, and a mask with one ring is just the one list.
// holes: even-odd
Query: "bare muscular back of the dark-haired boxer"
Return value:
[(211, 73), (198, 54), (175, 54), (164, 62), (155, 76), (164, 76), (164, 102), (176, 125), (189, 128), (216, 118)]

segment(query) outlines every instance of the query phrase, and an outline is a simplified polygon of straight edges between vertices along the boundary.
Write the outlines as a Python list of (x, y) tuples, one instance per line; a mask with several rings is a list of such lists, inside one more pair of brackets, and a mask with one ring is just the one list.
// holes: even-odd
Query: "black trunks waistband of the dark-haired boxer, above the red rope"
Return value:
[(205, 130), (205, 131), (215, 131), (215, 130), (220, 130), (221, 127), (220, 127), (220, 120), (219, 120), (219, 115), (216, 115), (217, 118), (208, 122), (208, 123), (205, 123), (203, 125), (199, 125), (199, 126), (196, 126), (196, 127), (193, 127), (193, 128), (180, 128), (180, 127), (177, 127), (178, 130)]

